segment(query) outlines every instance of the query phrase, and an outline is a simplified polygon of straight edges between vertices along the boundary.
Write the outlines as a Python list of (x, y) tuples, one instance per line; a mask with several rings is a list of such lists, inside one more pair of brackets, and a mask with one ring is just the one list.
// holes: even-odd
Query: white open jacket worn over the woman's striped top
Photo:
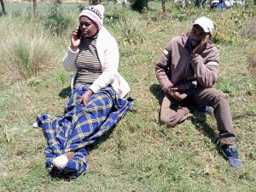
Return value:
[[(124, 77), (118, 72), (119, 67), (119, 49), (115, 38), (102, 26), (96, 39), (96, 50), (102, 65), (102, 75), (99, 76), (95, 82), (90, 86), (93, 93), (97, 93), (101, 88), (106, 88), (109, 84), (113, 90), (119, 94), (120, 98), (124, 98), (130, 91), (128, 83)], [(73, 88), (74, 79), (77, 75), (77, 68), (75, 61), (78, 57), (79, 49), (73, 52), (68, 47), (67, 54), (63, 58), (63, 66), (67, 71), (74, 71), (71, 81), (71, 88)]]

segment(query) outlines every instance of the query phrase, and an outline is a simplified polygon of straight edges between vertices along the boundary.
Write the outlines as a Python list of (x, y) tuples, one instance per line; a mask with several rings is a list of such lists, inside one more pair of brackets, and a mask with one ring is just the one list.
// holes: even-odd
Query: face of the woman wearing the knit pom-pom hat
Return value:
[(88, 17), (81, 16), (79, 22), (81, 34), (84, 35), (84, 37), (93, 37), (96, 35), (98, 27), (92, 20)]

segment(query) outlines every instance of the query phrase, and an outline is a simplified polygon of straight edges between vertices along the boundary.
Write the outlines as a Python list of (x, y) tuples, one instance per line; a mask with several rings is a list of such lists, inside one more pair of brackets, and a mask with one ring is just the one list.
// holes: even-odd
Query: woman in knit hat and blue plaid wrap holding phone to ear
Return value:
[(84, 8), (79, 28), (72, 31), (63, 66), (74, 71), (73, 91), (64, 115), (38, 116), (35, 127), (42, 127), (48, 140), (45, 153), (50, 173), (78, 177), (87, 167), (84, 147), (113, 128), (133, 104), (124, 98), (130, 88), (119, 75), (117, 42), (102, 26), (103, 14), (101, 4)]

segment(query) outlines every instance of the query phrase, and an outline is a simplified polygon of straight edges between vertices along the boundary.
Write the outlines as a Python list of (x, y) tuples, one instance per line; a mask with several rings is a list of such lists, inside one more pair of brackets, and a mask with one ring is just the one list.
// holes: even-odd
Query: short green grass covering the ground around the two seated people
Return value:
[[(42, 23), (37, 21), (42, 34), (49, 32), (43, 42), (52, 43), (49, 50), (55, 53), (53, 58), (57, 61), (51, 62), (52, 67), (43, 68), (23, 80), (15, 80), (14, 71), (9, 76), (0, 76), (3, 82), (0, 86), (0, 191), (256, 190), (256, 85), (255, 76), (247, 64), (247, 53), (252, 49), (254, 39), (229, 34), (234, 37), (233, 42), (217, 44), (221, 59), (216, 88), (224, 91), (230, 100), (244, 164), (241, 171), (233, 170), (220, 154), (213, 116), (199, 113), (194, 120), (175, 128), (159, 123), (163, 94), (155, 79), (154, 65), (167, 41), (189, 31), (192, 20), (203, 14), (217, 23), (222, 18), (219, 15), (226, 18), (228, 26), (218, 28), (224, 33), (224, 27), (237, 26), (230, 17), (237, 13), (236, 8), (229, 12), (210, 12), (207, 8), (201, 11), (188, 8), (181, 12), (167, 3), (166, 8), (170, 10), (167, 19), (163, 19), (160, 3), (149, 3), (149, 6), (152, 10), (145, 14), (131, 12), (128, 8), (121, 11), (106, 8), (104, 22), (118, 39), (119, 71), (131, 85), (137, 112), (127, 113), (112, 133), (89, 149), (88, 171), (72, 181), (48, 175), (44, 167), (46, 141), (40, 130), (32, 128), (38, 113), (47, 110), (52, 115), (59, 115), (67, 102), (68, 76), (71, 74), (63, 70), (61, 57), (69, 43), (69, 34), (56, 36), (54, 30), (44, 28), (46, 19), (42, 19)], [(195, 14), (187, 16), (188, 13)], [(77, 23), (75, 16), (71, 17), (73, 21), (67, 27), (72, 29)], [(9, 18), (9, 25), (17, 24), (17, 18), (26, 20), (20, 16), (13, 20)], [(8, 45), (8, 33), (2, 32), (6, 27), (5, 20), (6, 17), (0, 18), (1, 45)], [(22, 31), (26, 29), (30, 31), (31, 25), (21, 25), (20, 34), (25, 34)], [(250, 55), (253, 58), (253, 54)], [(1, 74), (5, 75), (4, 66), (8, 63), (0, 64)]]

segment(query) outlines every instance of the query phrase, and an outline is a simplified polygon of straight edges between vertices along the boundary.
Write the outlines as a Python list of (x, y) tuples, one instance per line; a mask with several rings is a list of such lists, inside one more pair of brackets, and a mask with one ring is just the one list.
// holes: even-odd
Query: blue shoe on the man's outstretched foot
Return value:
[(236, 169), (239, 169), (242, 167), (241, 160), (239, 159), (236, 146), (230, 147), (229, 145), (224, 144), (221, 148), (224, 155), (228, 158), (228, 161), (231, 167), (234, 167)]

